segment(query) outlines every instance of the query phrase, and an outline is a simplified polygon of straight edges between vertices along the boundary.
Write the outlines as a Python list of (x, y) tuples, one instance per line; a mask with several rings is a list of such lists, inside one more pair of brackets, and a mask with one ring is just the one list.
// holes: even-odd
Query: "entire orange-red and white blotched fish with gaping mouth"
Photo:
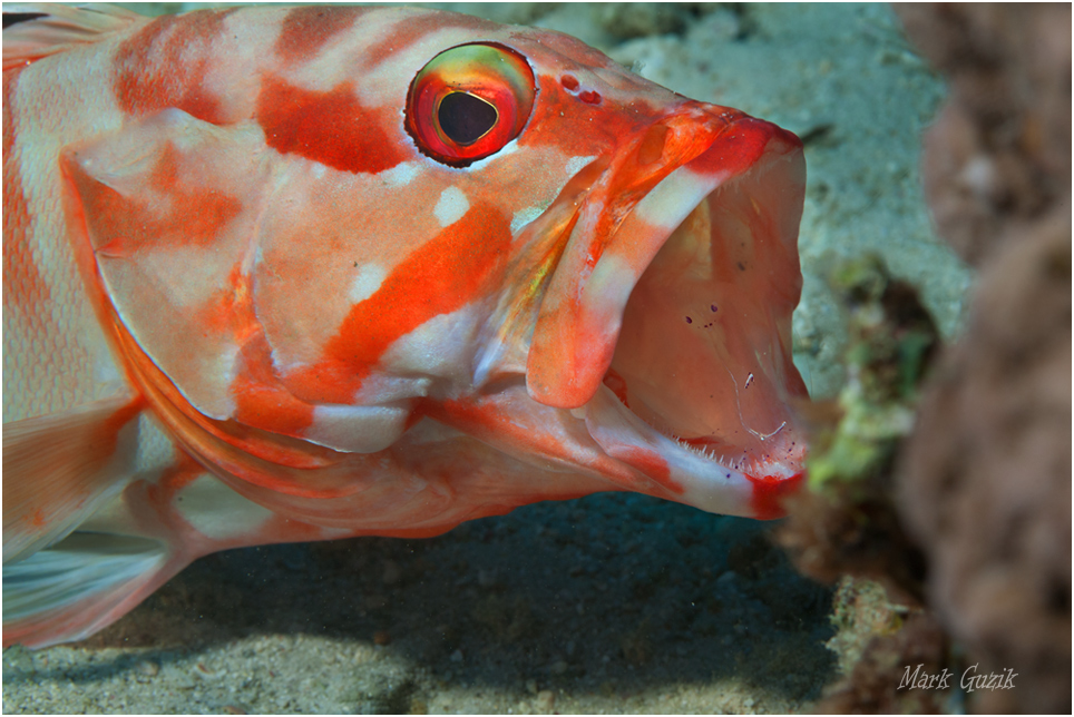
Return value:
[(448, 12), (37, 11), (3, 33), (4, 645), (240, 546), (608, 490), (780, 514), (797, 137)]

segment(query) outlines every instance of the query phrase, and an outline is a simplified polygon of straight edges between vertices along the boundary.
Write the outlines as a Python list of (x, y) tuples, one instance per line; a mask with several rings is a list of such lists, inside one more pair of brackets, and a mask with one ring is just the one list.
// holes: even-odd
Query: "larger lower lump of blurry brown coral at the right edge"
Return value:
[(922, 402), (902, 514), (929, 598), (983, 671), (985, 711), (1070, 711), (1071, 224), (1053, 217), (982, 275), (965, 338)]

